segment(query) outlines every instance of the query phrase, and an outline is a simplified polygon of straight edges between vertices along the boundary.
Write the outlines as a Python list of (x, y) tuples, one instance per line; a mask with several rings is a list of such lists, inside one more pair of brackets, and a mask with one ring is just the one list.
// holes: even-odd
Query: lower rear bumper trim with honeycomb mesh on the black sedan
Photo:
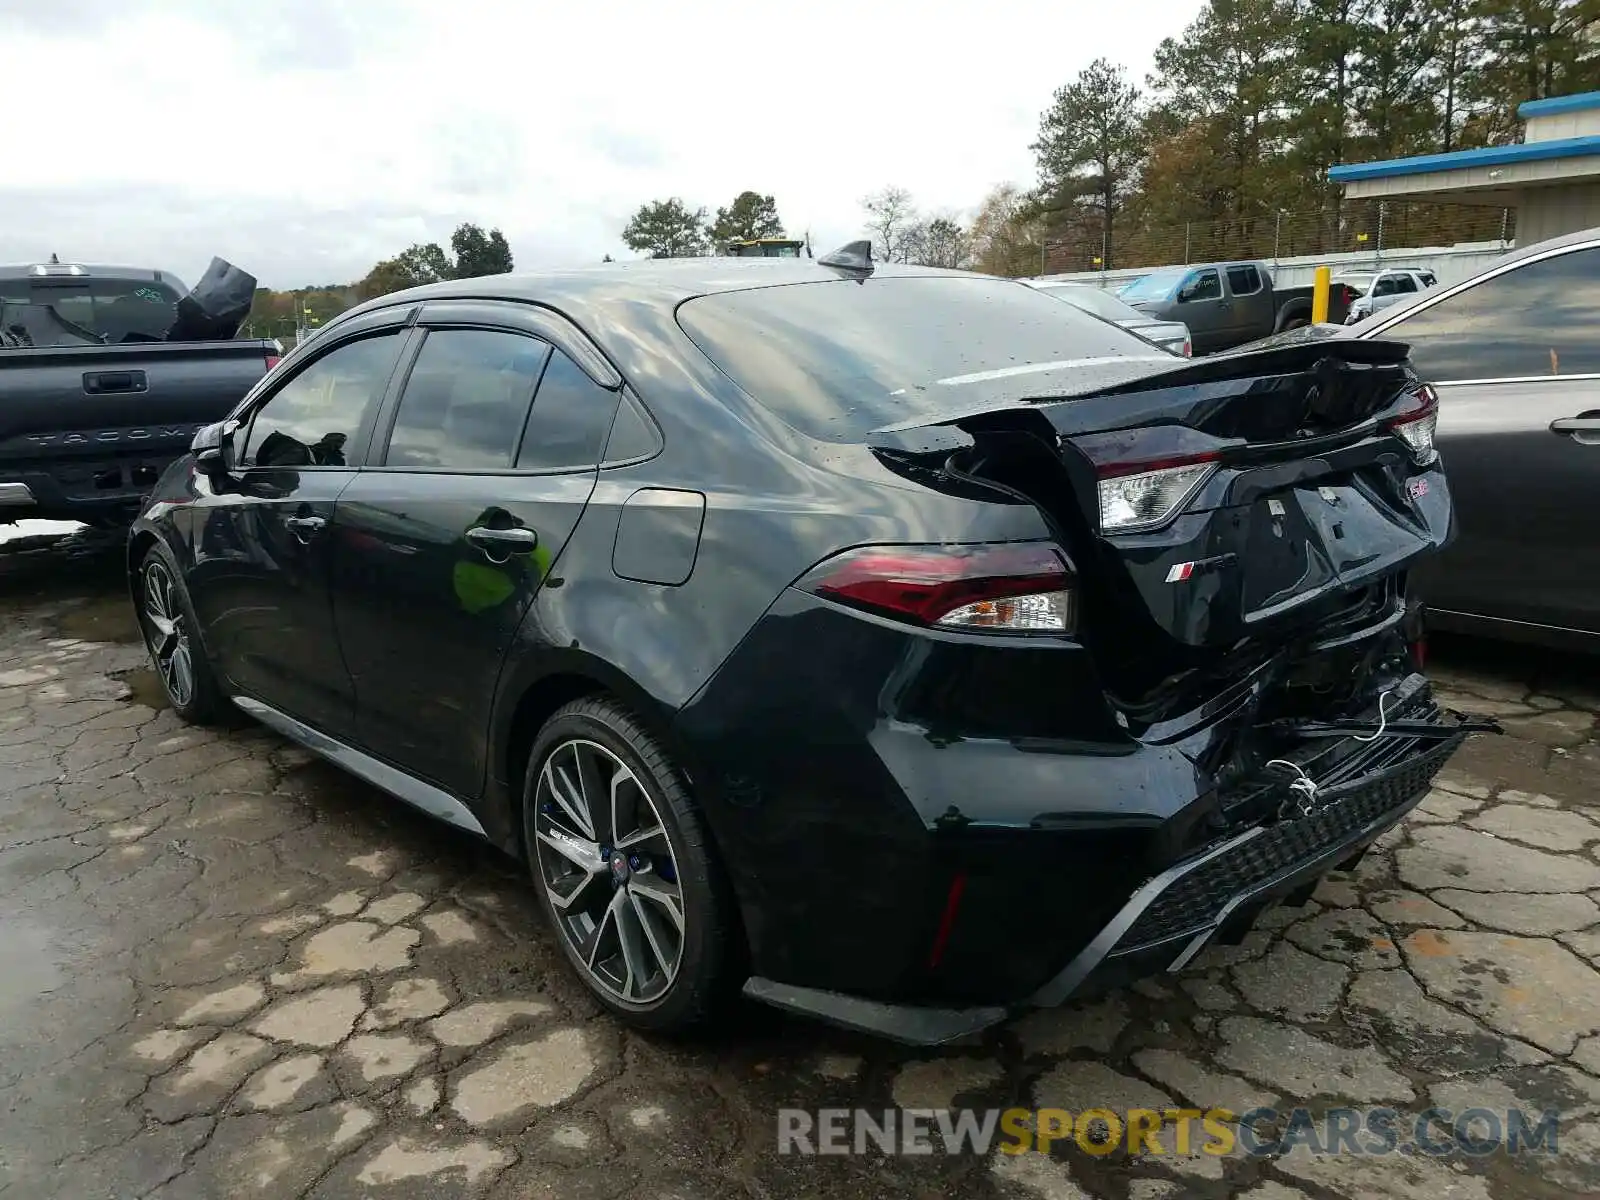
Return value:
[[(1398, 824), (1477, 728), (1434, 710), (1426, 738), (1378, 738), (1339, 763), (1336, 781), (1286, 816), (1224, 837), (1142, 883), (1046, 984), (1019, 1003), (928, 1008), (752, 978), (754, 1000), (909, 1045), (976, 1034), (1029, 1008), (1051, 1008), (1187, 966), (1213, 941), (1243, 934), (1267, 907), (1306, 896)], [(1309, 810), (1309, 811), (1306, 811)]]

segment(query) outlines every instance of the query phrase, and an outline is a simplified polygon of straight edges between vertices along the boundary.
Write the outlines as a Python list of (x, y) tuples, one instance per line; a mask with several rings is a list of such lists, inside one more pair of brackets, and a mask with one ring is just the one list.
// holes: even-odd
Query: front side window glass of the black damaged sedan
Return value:
[(349, 443), (378, 413), (400, 331), (346, 342), (296, 371), (256, 411), (240, 451), (246, 467), (346, 467)]

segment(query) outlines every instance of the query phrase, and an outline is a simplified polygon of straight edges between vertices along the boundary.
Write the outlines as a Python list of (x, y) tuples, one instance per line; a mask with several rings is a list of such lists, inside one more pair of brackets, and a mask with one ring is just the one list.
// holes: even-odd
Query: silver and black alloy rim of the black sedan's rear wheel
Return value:
[(683, 960), (678, 859), (650, 787), (598, 742), (558, 742), (533, 797), (536, 861), (557, 926), (624, 1005), (666, 995)]

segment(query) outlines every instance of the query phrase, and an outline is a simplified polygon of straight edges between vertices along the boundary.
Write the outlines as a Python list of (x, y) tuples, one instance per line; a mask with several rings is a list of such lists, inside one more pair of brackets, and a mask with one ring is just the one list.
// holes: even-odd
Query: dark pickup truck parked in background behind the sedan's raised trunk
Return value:
[[(1182, 322), (1195, 354), (1216, 354), (1310, 323), (1310, 288), (1274, 288), (1266, 262), (1162, 267), (1130, 283), (1118, 299), (1157, 320)], [(1328, 320), (1342, 322), (1354, 296), (1333, 288)]]

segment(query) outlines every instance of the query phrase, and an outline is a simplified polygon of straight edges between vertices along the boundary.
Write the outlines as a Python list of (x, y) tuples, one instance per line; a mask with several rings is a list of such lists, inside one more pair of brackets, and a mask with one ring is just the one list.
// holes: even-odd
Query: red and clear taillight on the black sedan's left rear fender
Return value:
[(864, 546), (798, 582), (851, 608), (939, 629), (1070, 634), (1072, 570), (1050, 542)]

